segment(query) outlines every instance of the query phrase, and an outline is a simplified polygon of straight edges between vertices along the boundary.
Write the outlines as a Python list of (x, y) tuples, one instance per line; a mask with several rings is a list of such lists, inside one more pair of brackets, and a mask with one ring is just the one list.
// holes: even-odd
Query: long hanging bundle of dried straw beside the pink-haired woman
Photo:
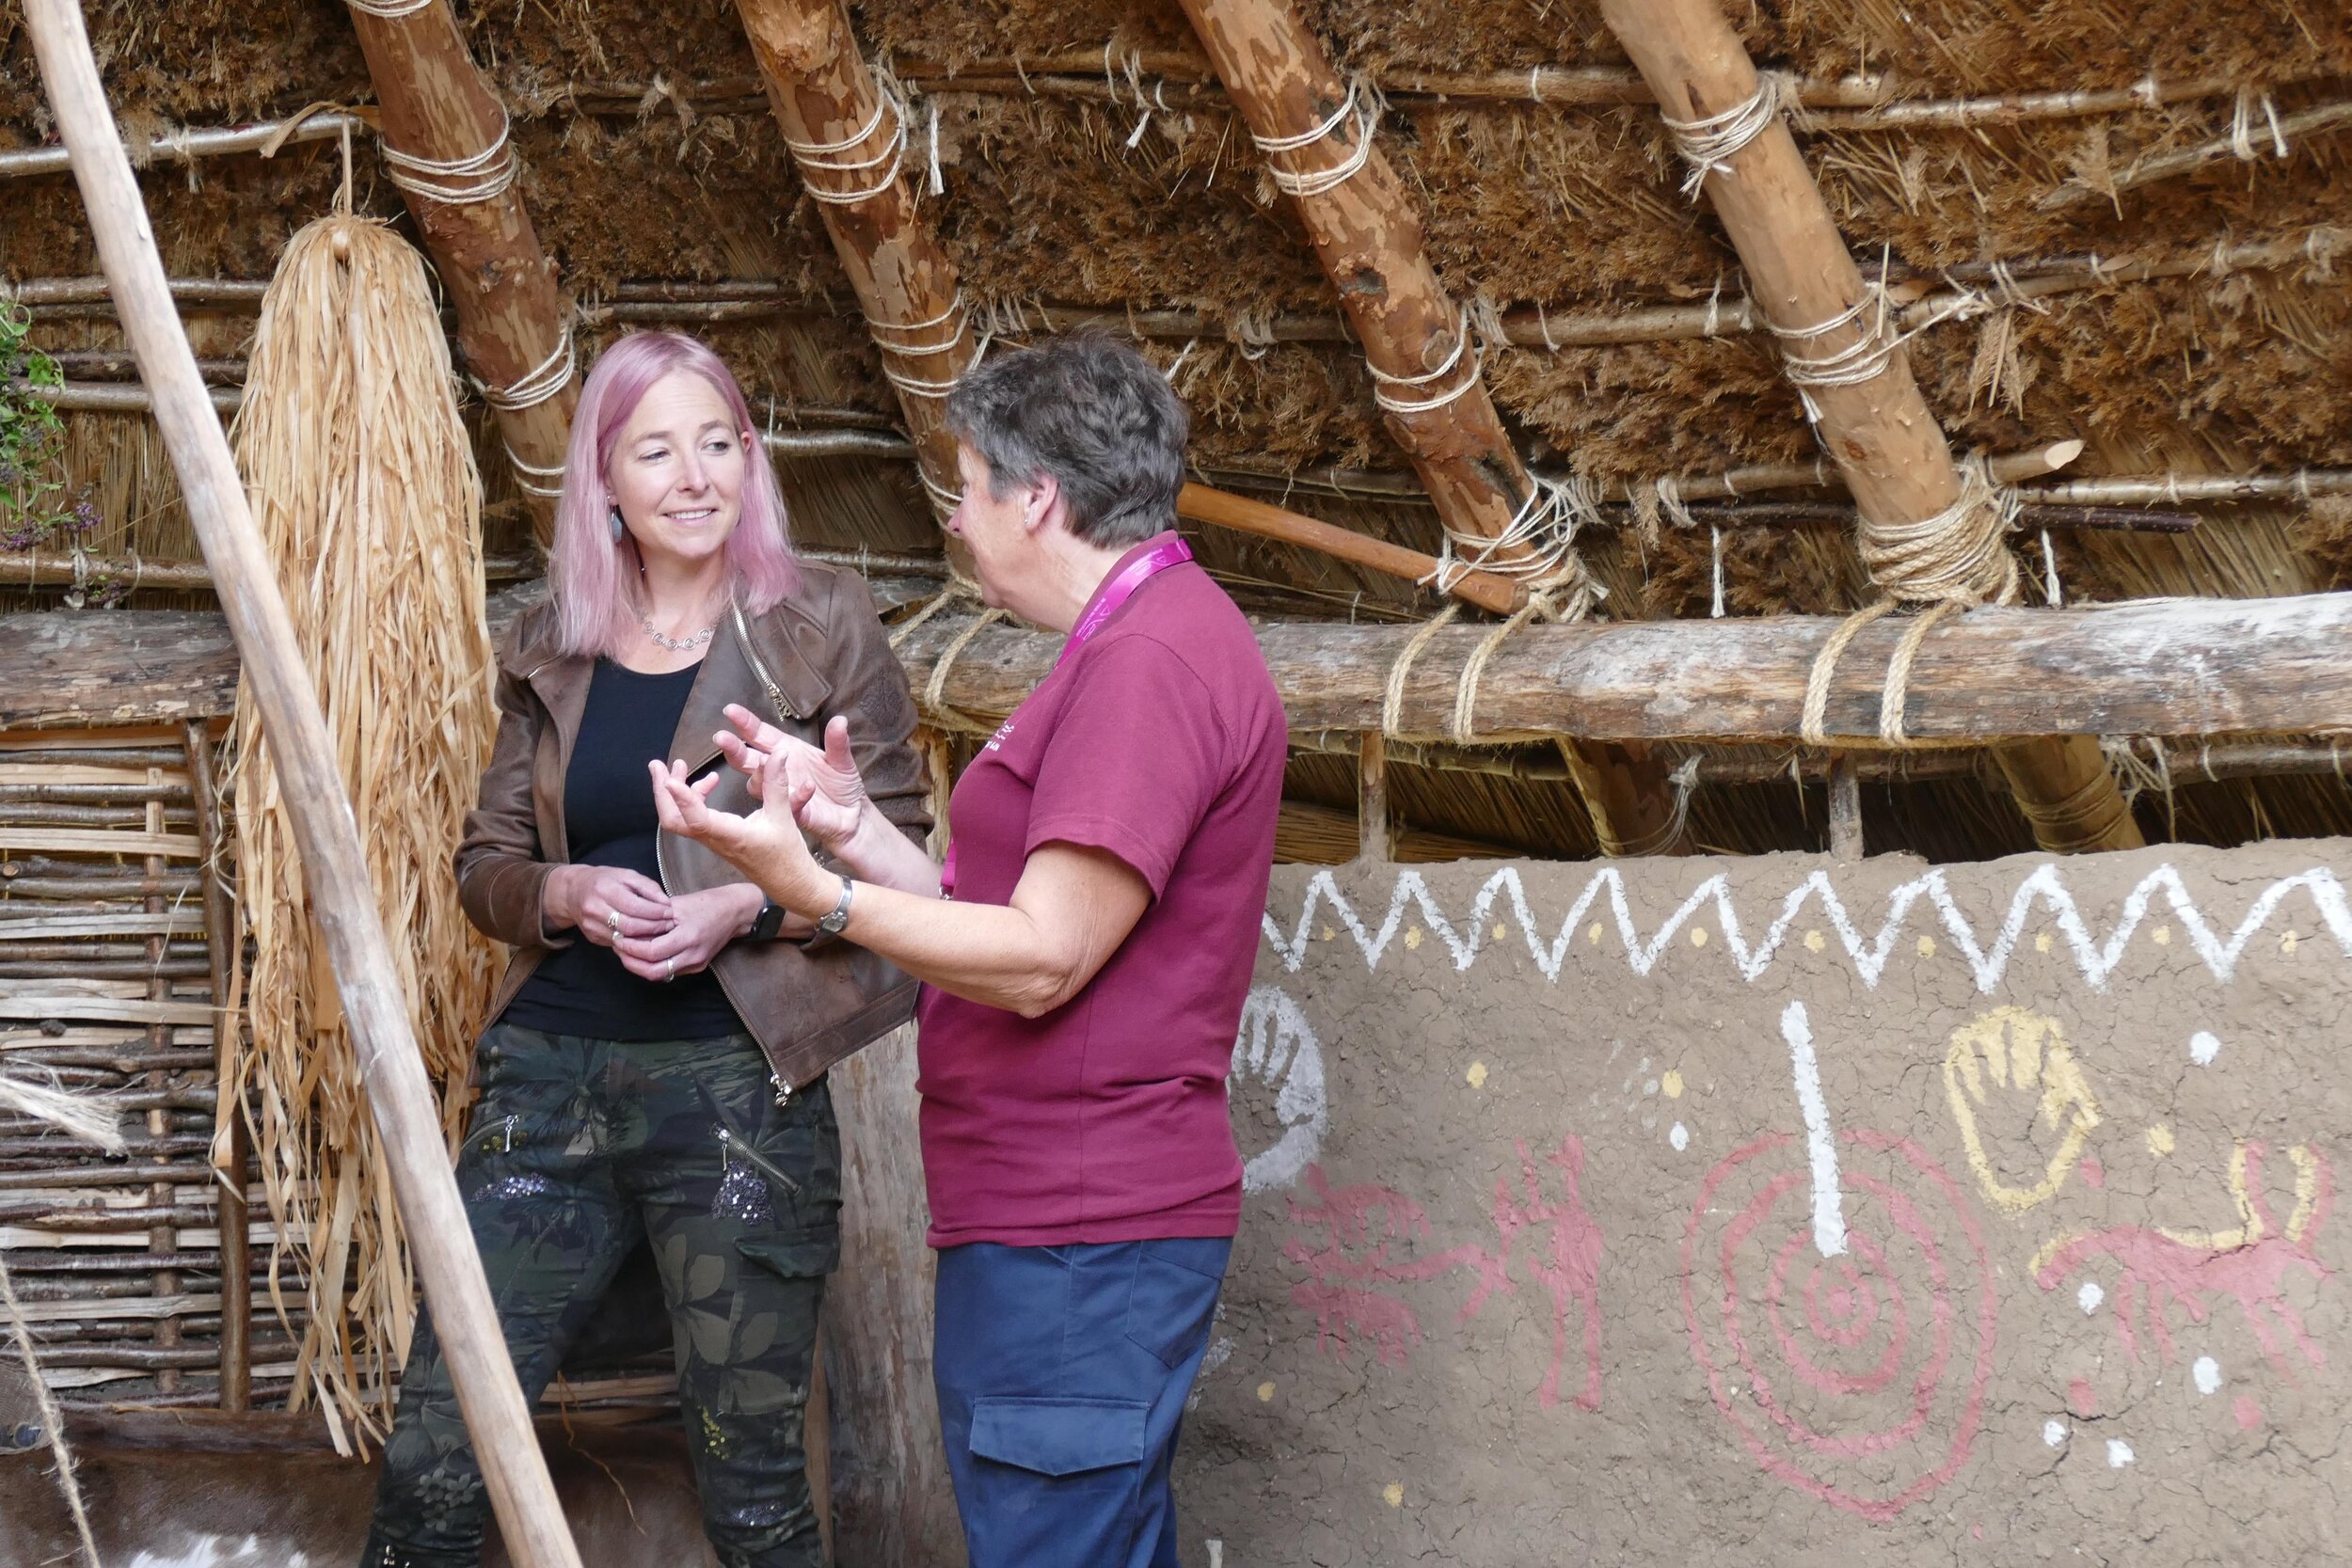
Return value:
[[(261, 301), (233, 430), (278, 559), (426, 1072), (456, 1135), (489, 943), (466, 924), (452, 851), (489, 757), (492, 649), (482, 501), (423, 261), (379, 223), (320, 219)], [(240, 1088), (278, 1246), (310, 1279), (294, 1408), (315, 1392), (341, 1436), (388, 1415), (414, 1286), (390, 1171), (367, 1114), (292, 813), (252, 691), (238, 696), (238, 839), (252, 1048)]]

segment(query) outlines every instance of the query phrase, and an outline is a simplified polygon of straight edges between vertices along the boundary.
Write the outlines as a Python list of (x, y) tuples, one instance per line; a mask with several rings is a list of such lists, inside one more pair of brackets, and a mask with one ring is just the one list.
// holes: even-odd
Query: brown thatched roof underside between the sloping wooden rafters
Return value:
[[(779, 425), (887, 430), (896, 421), (847, 280), (760, 96), (734, 5), (461, 9), (475, 59), (515, 115), (522, 188), (583, 308), (583, 343), (661, 317), (654, 284), (701, 284), (734, 303), (682, 308), (703, 317), (687, 324), (706, 331), (755, 397), (779, 404)], [(1301, 9), (1345, 71), (1388, 94), (1383, 148), (1423, 202), (1446, 289), (1494, 306), (1512, 327), (1541, 310), (1538, 341), (1512, 331), (1512, 343), (1486, 350), (1486, 383), (1536, 468), (1644, 484), (1816, 456), (1769, 339), (1736, 327), (1738, 259), (1710, 207), (1682, 200), (1656, 106), (1590, 2), (1322, 0)], [(365, 103), (372, 92), (348, 16), (327, 0), (101, 2), (92, 12), (108, 89), (134, 134)], [(1047, 308), (1054, 320), (1136, 320), (1195, 409), (1202, 468), (1228, 484), (1242, 482), (1235, 470), (1303, 480), (1374, 470), (1385, 480), (1352, 489), (1402, 494), (1343, 498), (1298, 482), (1287, 503), (1437, 548), (1435, 512), (1383, 430), (1331, 284), (1171, 2), (877, 0), (851, 16), (915, 106), (924, 179), (936, 136), (943, 190), (924, 209), (1000, 341), (1037, 329)], [(1799, 82), (1884, 78), (1867, 94), (1846, 89), (1846, 108), (1820, 106), (1837, 94), (1813, 92), (1802, 146), (1865, 270), (1884, 256), (1891, 280), (1931, 289), (1950, 273), (1985, 294), (1983, 310), (1929, 327), (1912, 346), (1955, 447), (2018, 451), (2082, 437), (2070, 480), (2352, 468), (2352, 299), (2336, 273), (2338, 249), (2352, 242), (2352, 115), (2326, 113), (2352, 101), (2343, 5), (2053, 0), (2027, 14), (1980, 0), (1783, 0), (1738, 7), (1736, 19), (1757, 61)], [(31, 52), (9, 31), (0, 19), (0, 148), (49, 139)], [(2112, 103), (2136, 87), (2138, 96)], [(2063, 92), (2105, 92), (2107, 106), (1917, 125), (1966, 118), (1922, 115), (1922, 103)], [(1912, 122), (1889, 125), (1903, 115), (1851, 99), (1912, 106)], [(2211, 146), (2220, 155), (2176, 172)], [(143, 183), (174, 275), (261, 280), (285, 237), (327, 209), (336, 181), (334, 143), (310, 143), (270, 162), (158, 167)], [(360, 158), (360, 193), (362, 207), (402, 214), (372, 158)], [(7, 280), (96, 273), (71, 181), (5, 181), (0, 212)], [(2265, 266), (2211, 266), (2218, 249), (2263, 244), (2272, 247)], [(2009, 282), (2063, 275), (2089, 256), (2100, 270), (2122, 259), (2197, 270), (2145, 282), (2084, 273), (2079, 287), (2032, 301), (2004, 294)], [(2002, 273), (1987, 263), (2004, 263)], [(1698, 336), (1710, 301), (1712, 334)], [(1668, 306), (1698, 320), (1663, 339), (1623, 320)], [(242, 355), (249, 315), (188, 320), (200, 355)], [(1543, 334), (1578, 346), (1548, 350)], [(1606, 336), (1653, 341), (1595, 341)], [(120, 346), (103, 313), (49, 315), (40, 341), (52, 350)], [(235, 367), (221, 374), (233, 378)], [(73, 465), (99, 487), (111, 529), (94, 541), (99, 550), (195, 552), (160, 442), (141, 418), (75, 416)], [(489, 550), (515, 555), (529, 529), (513, 482), (503, 463), (485, 461), (485, 475)], [(788, 482), (804, 543), (936, 552), (908, 463), (800, 458)], [(2312, 592), (2352, 567), (2343, 501), (2176, 510), (2194, 512), (2199, 527), (2051, 534), (2065, 597)], [(1590, 538), (1588, 557), (1611, 588), (1606, 614), (1708, 616), (1710, 543), (1705, 529), (1644, 536), (1628, 527)], [(2020, 543), (2039, 583), (2039, 541)], [(1200, 548), (1251, 609), (1381, 618), (1435, 609), (1409, 583), (1301, 550), (1221, 531), (1202, 531)], [(1870, 597), (1851, 527), (1835, 520), (1726, 527), (1722, 576), (1729, 614), (1835, 614)], [(1421, 832), (1592, 853), (1559, 778), (1418, 766), (1397, 766), (1395, 778), (1395, 809)], [(1352, 790), (1345, 757), (1294, 762), (1291, 799), (1303, 809), (1350, 811)], [(1872, 849), (1978, 858), (2032, 844), (2006, 797), (1966, 773), (1865, 785), (1865, 813)], [(2333, 776), (2180, 778), (2169, 806), (2150, 792), (2140, 816), (2152, 837), (2211, 842), (2347, 832), (2352, 792)], [(1310, 818), (1298, 813), (1301, 835)], [(1329, 827), (1331, 818), (1315, 820)], [(1823, 797), (1816, 785), (1799, 799), (1790, 783), (1705, 788), (1693, 820), (1712, 849), (1818, 846)]]

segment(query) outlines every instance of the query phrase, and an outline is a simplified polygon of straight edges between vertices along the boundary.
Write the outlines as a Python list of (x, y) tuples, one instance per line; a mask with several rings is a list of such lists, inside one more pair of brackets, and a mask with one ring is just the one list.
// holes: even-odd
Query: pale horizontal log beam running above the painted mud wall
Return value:
[[(1795, 741), (1813, 656), (1835, 616), (1526, 625), (1479, 684), (1486, 743)], [(969, 618), (938, 614), (901, 644), (917, 691)], [(1268, 621), (1258, 646), (1291, 729), (1378, 729), (1411, 625)], [(1402, 731), (1444, 736), (1461, 670), (1484, 639), (1444, 628), (1411, 665)], [(1863, 628), (1830, 682), (1832, 743), (1879, 745), (1879, 682), (1898, 621)], [(1061, 639), (990, 625), (948, 670), (946, 705), (995, 724), (1047, 677)], [(2352, 595), (2159, 599), (2091, 609), (1973, 609), (1938, 623), (1910, 677), (1922, 743), (2018, 736), (2296, 733), (2352, 712)]]

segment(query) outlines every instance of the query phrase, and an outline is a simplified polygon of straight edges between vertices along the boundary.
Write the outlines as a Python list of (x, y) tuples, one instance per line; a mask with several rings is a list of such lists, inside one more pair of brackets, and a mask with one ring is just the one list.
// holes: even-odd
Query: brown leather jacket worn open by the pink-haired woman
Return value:
[[(701, 769), (720, 755), (727, 703), (823, 745), (826, 719), (849, 715), (851, 750), (866, 792), (908, 837), (931, 825), (922, 762), (908, 736), (915, 698), (889, 649), (866, 581), (854, 571), (800, 562), (800, 588), (764, 616), (722, 616), (677, 719), (670, 755)], [(750, 632), (743, 646), (739, 628)], [(466, 917), (515, 950), (489, 1016), (515, 999), (539, 961), (576, 936), (541, 924), (548, 872), (569, 858), (564, 771), (588, 703), (590, 658), (555, 649), (555, 611), (524, 609), (499, 649), (499, 743), (482, 771), (477, 806), (456, 851)], [(746, 780), (722, 766), (710, 804), (755, 806)], [(661, 882), (673, 893), (741, 882), (741, 872), (691, 839), (656, 839)], [(767, 1053), (779, 1098), (802, 1088), (858, 1046), (906, 1023), (915, 980), (844, 940), (743, 938), (710, 959), (720, 987)]]

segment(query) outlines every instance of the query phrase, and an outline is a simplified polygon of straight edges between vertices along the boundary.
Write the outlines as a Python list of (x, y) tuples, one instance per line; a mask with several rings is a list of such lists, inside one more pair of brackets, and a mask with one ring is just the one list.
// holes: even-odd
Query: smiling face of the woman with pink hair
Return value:
[(604, 484), (637, 550), (680, 562), (717, 555), (743, 520), (750, 440), (717, 388), (694, 371), (644, 388), (604, 463)]

